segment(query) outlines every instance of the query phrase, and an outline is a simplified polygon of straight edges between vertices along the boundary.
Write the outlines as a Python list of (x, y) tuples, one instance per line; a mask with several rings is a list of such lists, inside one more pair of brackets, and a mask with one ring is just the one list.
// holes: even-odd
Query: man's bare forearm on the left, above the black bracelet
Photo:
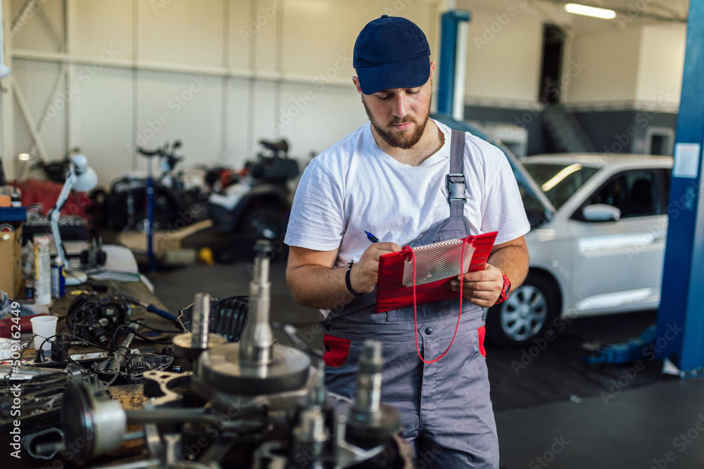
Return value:
[(298, 304), (311, 308), (335, 309), (351, 301), (345, 283), (347, 266), (298, 266), (287, 272), (291, 295)]

